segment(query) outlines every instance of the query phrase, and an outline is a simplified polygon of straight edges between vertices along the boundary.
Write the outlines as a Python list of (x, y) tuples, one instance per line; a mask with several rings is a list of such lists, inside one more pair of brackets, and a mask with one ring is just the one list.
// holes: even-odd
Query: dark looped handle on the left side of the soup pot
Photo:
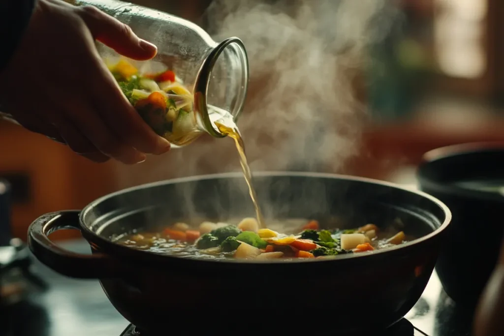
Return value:
[(60, 211), (37, 218), (28, 228), (32, 253), (52, 270), (71, 278), (102, 279), (117, 276), (119, 263), (103, 253), (80, 254), (54, 244), (48, 235), (61, 229), (80, 230), (79, 210)]

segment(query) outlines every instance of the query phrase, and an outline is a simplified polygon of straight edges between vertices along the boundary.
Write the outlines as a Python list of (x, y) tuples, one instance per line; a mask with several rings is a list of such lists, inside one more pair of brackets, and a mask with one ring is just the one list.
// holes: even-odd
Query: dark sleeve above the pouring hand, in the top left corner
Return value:
[(0, 0), (0, 72), (21, 40), (37, 0)]

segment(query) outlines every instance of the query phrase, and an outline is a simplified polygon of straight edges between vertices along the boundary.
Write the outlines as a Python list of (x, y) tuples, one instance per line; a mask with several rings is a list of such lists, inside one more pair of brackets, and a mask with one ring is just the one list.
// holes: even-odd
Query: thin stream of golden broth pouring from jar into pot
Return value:
[[(223, 122), (225, 122), (227, 125), (224, 125)], [(238, 151), (238, 154), (240, 156), (240, 165), (241, 169), (243, 169), (243, 176), (245, 177), (245, 181), (247, 182), (248, 185), (250, 198), (252, 198), (254, 208), (256, 209), (256, 216), (257, 221), (259, 223), (259, 228), (265, 229), (266, 225), (264, 224), (263, 214), (261, 213), (261, 209), (259, 208), (259, 204), (257, 202), (256, 189), (254, 189), (254, 185), (252, 184), (252, 173), (247, 163), (247, 156), (245, 154), (245, 145), (243, 144), (243, 139), (240, 136), (238, 127), (232, 120), (227, 118), (216, 121), (215, 125), (223, 135), (233, 138), (234, 140), (236, 150)]]

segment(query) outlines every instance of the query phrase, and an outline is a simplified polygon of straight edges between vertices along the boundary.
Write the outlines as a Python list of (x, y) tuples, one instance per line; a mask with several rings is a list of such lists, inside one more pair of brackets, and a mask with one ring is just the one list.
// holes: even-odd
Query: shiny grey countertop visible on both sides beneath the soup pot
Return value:
[[(89, 253), (84, 240), (60, 244)], [(75, 280), (51, 271), (34, 259), (34, 270), (50, 284), (30, 301), (0, 310), (0, 331), (6, 336), (119, 336), (128, 326), (108, 301), (96, 280)], [(406, 315), (429, 336), (469, 336), (471, 313), (464, 313), (447, 297), (435, 272), (415, 307)], [(9, 331), (10, 330), (10, 331)]]

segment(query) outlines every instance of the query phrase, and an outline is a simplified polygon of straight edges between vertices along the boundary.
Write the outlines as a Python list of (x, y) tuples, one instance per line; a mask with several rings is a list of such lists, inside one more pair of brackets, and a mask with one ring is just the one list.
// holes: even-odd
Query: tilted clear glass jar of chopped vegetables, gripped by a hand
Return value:
[[(158, 83), (157, 87), (161, 88), (160, 91), (168, 103), (162, 127), (156, 128), (156, 125), (150, 122), (148, 114), (152, 111), (148, 111), (149, 108), (145, 110), (145, 103), (141, 104), (143, 109), (135, 106), (144, 120), (159, 135), (170, 141), (172, 147), (187, 145), (203, 132), (217, 138), (225, 137), (214, 122), (223, 116), (232, 117), (236, 121), (243, 108), (247, 91), (248, 58), (240, 39), (230, 37), (218, 43), (190, 21), (131, 3), (117, 0), (65, 1), (75, 6), (94, 6), (129, 25), (140, 38), (158, 47), (158, 53), (152, 60), (138, 62), (127, 59), (122, 62), (133, 65), (139, 74), (148, 73), (152, 76), (172, 71), (176, 75), (175, 82), (188, 89), (184, 91), (183, 88), (177, 87), (190, 97), (189, 101), (185, 102), (184, 109), (187, 111), (184, 111), (187, 113), (183, 114), (185, 119), (180, 122), (179, 127), (176, 125), (177, 121), (182, 119), (178, 109), (181, 105), (177, 102), (170, 105), (169, 102), (173, 100), (170, 101), (169, 98), (174, 97), (170, 92), (175, 92), (164, 90), (170, 88), (170, 81)], [(121, 61), (121, 56), (102, 43), (97, 42), (96, 45), (109, 69), (113, 71), (117, 62)], [(155, 90), (149, 89), (146, 92), (150, 94), (153, 91)], [(191, 111), (188, 111), (190, 108)], [(175, 109), (175, 113), (170, 109)], [(4, 117), (12, 118), (6, 114)]]

